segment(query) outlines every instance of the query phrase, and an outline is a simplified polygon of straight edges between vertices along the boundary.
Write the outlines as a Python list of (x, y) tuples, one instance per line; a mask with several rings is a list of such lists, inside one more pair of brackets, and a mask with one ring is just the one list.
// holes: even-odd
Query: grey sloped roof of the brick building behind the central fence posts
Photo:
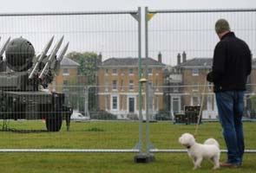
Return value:
[[(148, 63), (148, 66), (154, 66), (154, 67), (164, 67), (165, 64), (155, 61), (152, 58), (148, 58), (147, 60), (145, 58), (141, 58), (141, 65), (144, 66)], [(102, 62), (102, 67), (138, 67), (139, 61), (138, 58), (109, 58), (106, 61)]]

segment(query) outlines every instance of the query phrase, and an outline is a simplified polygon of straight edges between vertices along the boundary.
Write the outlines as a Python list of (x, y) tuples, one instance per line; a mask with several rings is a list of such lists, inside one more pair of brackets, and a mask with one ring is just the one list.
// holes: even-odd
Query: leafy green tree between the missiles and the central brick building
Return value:
[(71, 52), (67, 54), (67, 57), (80, 64), (78, 74), (86, 77), (89, 86), (95, 86), (95, 74), (100, 61), (98, 55), (93, 52)]

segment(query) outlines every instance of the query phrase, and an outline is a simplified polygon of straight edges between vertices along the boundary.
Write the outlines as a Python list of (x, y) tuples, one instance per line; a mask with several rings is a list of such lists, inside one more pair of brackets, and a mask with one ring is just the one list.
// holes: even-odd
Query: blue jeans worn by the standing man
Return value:
[(227, 162), (241, 164), (245, 151), (242, 116), (244, 109), (243, 91), (215, 93), (220, 124), (226, 142)]

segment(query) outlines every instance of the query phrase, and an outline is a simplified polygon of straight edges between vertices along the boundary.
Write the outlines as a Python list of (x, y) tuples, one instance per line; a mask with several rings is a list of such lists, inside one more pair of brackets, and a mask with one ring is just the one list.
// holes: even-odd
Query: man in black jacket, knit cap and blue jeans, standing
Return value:
[(215, 23), (220, 38), (213, 54), (212, 72), (207, 80), (213, 82), (220, 124), (227, 148), (227, 160), (222, 167), (239, 167), (245, 151), (242, 115), (247, 76), (251, 74), (252, 57), (246, 42), (230, 31), (228, 22)]

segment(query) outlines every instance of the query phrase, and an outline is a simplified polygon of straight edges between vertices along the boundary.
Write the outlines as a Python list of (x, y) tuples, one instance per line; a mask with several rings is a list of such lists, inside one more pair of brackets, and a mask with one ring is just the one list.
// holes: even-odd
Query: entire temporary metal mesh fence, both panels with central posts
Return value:
[[(172, 131), (164, 128), (161, 131), (161, 125), (156, 129), (156, 124), (151, 122), (161, 124), (165, 120), (163, 126), (175, 125), (175, 113), (183, 113), (184, 106), (200, 105), (202, 95), (206, 97), (203, 116), (211, 114), (208, 119), (212, 120), (213, 115), (217, 115), (213, 90), (207, 85), (207, 93), (201, 92), (205, 81), (202, 76), (211, 68), (208, 60), (212, 59), (214, 45), (218, 42), (214, 22), (220, 17), (226, 18), (255, 54), (255, 12), (146, 8), (145, 30), (141, 30), (141, 8), (112, 12), (0, 14), (0, 22), (6, 23), (0, 29), (1, 40), (22, 36), (34, 45), (36, 54), (41, 54), (52, 35), (57, 39), (64, 35), (64, 42), (69, 42), (66, 57), (74, 61), (63, 60), (61, 75), (56, 76), (47, 89), (65, 93), (65, 105), (72, 107), (76, 116), (71, 119), (69, 131), (62, 124), (61, 131), (56, 133), (41, 131), (45, 128), (45, 119), (3, 121), (3, 130), (7, 131), (1, 131), (1, 146), (6, 147), (0, 152), (139, 152), (143, 155), (146, 151), (146, 155), (150, 155), (186, 151), (173, 147), (179, 134), (175, 133), (169, 139), (161, 138), (161, 133)], [(145, 34), (145, 48), (141, 48), (141, 31)], [(142, 49), (145, 50), (145, 59), (141, 58)], [(177, 57), (179, 53), (180, 59)], [(88, 61), (80, 59), (82, 56)], [(120, 64), (123, 60), (128, 61)], [(131, 64), (134, 60), (137, 61), (135, 65)], [(197, 69), (194, 71), (188, 66), (184, 66), (183, 71), (177, 69), (177, 63), (182, 65), (182, 62), (191, 60), (207, 61), (206, 65), (194, 65)], [(149, 63), (152, 61), (157, 66)], [(91, 67), (84, 68), (87, 64)], [(191, 71), (187, 72), (187, 69)], [(254, 85), (246, 95), (246, 103), (255, 93)], [(246, 107), (246, 110), (252, 111), (251, 108)], [(28, 113), (35, 111), (31, 109)], [(42, 121), (41, 125), (35, 125)], [(146, 121), (146, 127), (143, 121)], [(103, 126), (102, 122), (109, 125)], [(23, 131), (28, 126), (32, 129), (30, 133)], [(182, 131), (194, 129), (189, 125), (176, 126)], [(130, 140), (127, 136), (136, 138)], [(159, 138), (155, 139), (155, 136)], [(169, 148), (169, 143), (173, 143), (170, 149), (165, 149)], [(255, 150), (246, 152), (254, 153)]]

